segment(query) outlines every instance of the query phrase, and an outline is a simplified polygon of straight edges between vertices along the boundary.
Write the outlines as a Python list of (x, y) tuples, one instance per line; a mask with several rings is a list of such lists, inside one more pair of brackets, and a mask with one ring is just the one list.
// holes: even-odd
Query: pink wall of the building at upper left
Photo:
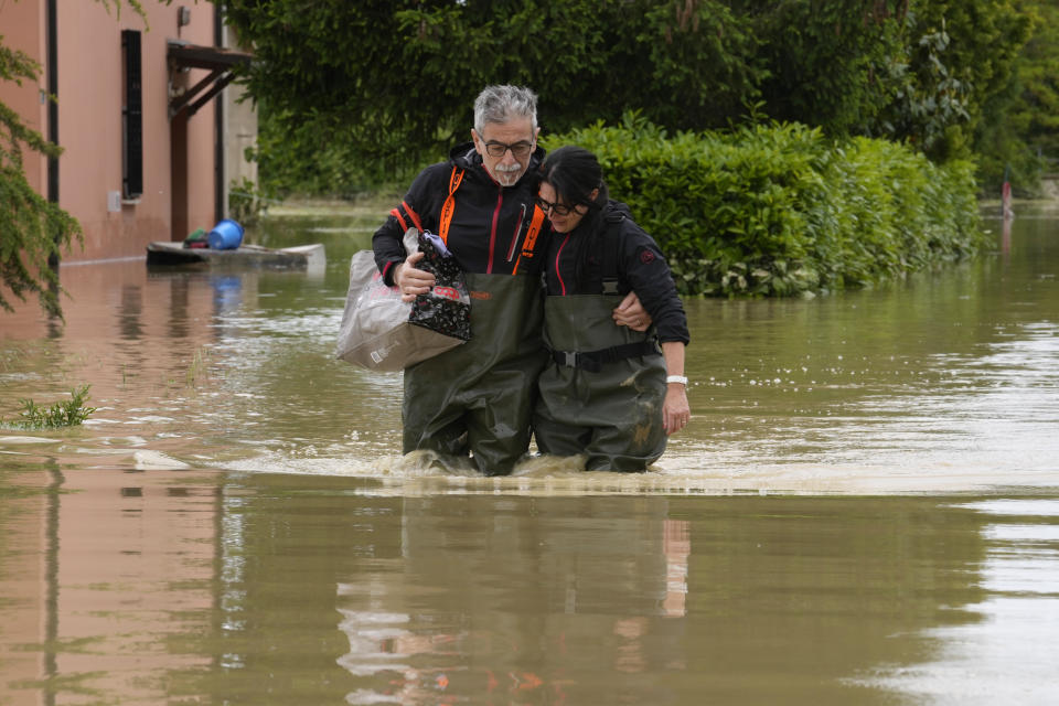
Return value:
[[(181, 39), (210, 46), (214, 36), (214, 7), (185, 0), (142, 3), (146, 18), (127, 3), (108, 12), (103, 2), (60, 0), (58, 142), (65, 149), (60, 164), (60, 205), (81, 223), (84, 247), (76, 244), (63, 261), (143, 256), (151, 240), (182, 239), (172, 233), (172, 158), (169, 97), (171, 79), (193, 86), (207, 72), (173, 72), (167, 62), (167, 40)], [(178, 26), (180, 8), (191, 10), (190, 23)], [(108, 210), (108, 192), (121, 191), (121, 108), (124, 104), (121, 30), (139, 30), (142, 43), (143, 194)], [(0, 34), (42, 66), (40, 82), (17, 87), (0, 84), (0, 99), (47, 136), (46, 106), (40, 93), (47, 88), (46, 2), (19, 0), (0, 3)], [(189, 229), (208, 229), (215, 221), (214, 101), (188, 122)], [(29, 162), (33, 162), (32, 164)], [(28, 160), (26, 175), (46, 194), (43, 160)], [(179, 215), (179, 214), (178, 214)], [(179, 222), (182, 222), (178, 217)]]

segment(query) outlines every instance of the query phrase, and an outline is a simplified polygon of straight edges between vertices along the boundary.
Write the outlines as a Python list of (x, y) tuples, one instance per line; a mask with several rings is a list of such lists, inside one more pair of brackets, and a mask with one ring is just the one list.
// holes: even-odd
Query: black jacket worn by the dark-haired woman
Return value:
[(553, 233), (546, 261), (548, 296), (603, 293), (605, 278), (617, 278), (617, 293), (637, 292), (654, 320), (661, 342), (691, 340), (670, 266), (625, 204), (608, 201), (601, 211), (586, 215), (573, 232)]

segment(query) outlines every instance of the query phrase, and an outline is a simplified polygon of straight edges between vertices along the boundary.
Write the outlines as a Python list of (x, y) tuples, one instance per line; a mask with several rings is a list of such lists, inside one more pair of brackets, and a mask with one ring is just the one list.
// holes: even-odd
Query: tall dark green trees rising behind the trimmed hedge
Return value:
[(939, 163), (982, 158), (982, 188), (994, 193), (1008, 164), (1033, 192), (1056, 147), (1037, 109), (1056, 75), (1050, 1), (231, 0), (226, 9), (260, 58), (246, 81), (260, 106), (257, 157), (270, 195), (351, 195), (407, 180), (468, 138), (471, 100), (489, 83), (535, 87), (545, 133), (616, 124), (625, 110), (668, 130), (770, 118), (908, 142)]

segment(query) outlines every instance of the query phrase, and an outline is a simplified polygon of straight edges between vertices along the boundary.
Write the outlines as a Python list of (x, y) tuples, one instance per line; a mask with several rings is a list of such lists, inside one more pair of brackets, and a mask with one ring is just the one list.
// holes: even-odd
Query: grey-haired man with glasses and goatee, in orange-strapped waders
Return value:
[[(547, 360), (541, 297), (547, 226), (534, 204), (544, 158), (536, 100), (528, 88), (483, 89), (472, 142), (422, 170), (372, 238), (379, 271), (406, 299), (434, 285), (434, 275), (415, 267), (422, 254), (406, 259), (408, 227), (439, 235), (466, 272), (473, 338), (405, 370), (404, 452), (470, 452), (488, 475), (510, 473), (528, 449), (536, 379)], [(621, 324), (643, 318), (634, 298), (616, 310)]]

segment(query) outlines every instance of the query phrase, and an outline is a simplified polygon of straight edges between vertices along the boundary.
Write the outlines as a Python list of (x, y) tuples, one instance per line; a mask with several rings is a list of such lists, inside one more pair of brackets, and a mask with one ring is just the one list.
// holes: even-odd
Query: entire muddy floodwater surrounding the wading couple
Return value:
[(323, 272), (72, 265), (0, 313), (0, 704), (1052, 704), (1059, 217), (869, 291), (686, 302), (644, 474), (402, 459)]

